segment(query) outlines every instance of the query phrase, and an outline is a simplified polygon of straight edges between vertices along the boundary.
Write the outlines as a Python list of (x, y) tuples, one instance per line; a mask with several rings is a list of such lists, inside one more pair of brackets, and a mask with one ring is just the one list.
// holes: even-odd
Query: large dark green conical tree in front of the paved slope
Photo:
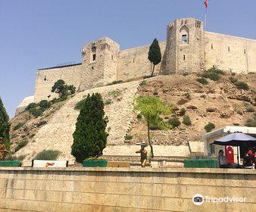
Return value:
[(107, 123), (101, 95), (87, 95), (73, 133), (71, 154), (76, 157), (76, 161), (82, 163), (88, 157), (98, 157), (102, 154), (108, 138), (105, 131)]

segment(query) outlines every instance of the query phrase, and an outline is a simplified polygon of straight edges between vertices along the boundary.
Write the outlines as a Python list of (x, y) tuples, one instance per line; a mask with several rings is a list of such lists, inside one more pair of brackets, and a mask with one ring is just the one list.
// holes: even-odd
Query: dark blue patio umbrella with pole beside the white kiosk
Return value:
[(223, 136), (220, 139), (216, 139), (214, 145), (230, 145), (237, 147), (237, 161), (239, 164), (239, 148), (240, 146), (256, 147), (256, 139), (252, 136), (248, 136), (244, 133), (230, 133)]

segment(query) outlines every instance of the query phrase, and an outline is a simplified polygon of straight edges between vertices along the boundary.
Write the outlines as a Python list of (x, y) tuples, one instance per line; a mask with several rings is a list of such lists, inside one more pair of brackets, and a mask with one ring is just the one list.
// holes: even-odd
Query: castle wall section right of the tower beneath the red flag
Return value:
[(256, 72), (256, 40), (204, 32), (205, 68)]

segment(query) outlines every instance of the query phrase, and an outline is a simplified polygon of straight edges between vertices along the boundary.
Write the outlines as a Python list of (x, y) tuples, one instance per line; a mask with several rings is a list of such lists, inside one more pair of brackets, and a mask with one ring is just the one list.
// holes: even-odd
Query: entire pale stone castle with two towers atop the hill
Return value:
[[(167, 40), (159, 45), (162, 61), (155, 67), (157, 74), (197, 72), (214, 66), (236, 73), (256, 72), (256, 40), (207, 32), (204, 23), (195, 18), (169, 23)], [(37, 71), (35, 93), (23, 100), (17, 114), (31, 102), (57, 97), (51, 89), (60, 79), (83, 91), (150, 75), (149, 46), (120, 51), (120, 45), (108, 37), (85, 44), (82, 63)]]

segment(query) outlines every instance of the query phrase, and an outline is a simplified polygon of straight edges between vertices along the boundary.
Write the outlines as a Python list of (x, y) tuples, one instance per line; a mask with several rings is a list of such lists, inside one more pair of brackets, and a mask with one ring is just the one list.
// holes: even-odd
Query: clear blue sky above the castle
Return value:
[[(207, 29), (256, 39), (255, 0), (209, 0)], [(204, 0), (0, 0), (0, 96), (10, 117), (33, 95), (36, 70), (80, 62), (83, 44), (102, 36), (120, 48), (166, 39), (180, 17), (204, 20)]]

